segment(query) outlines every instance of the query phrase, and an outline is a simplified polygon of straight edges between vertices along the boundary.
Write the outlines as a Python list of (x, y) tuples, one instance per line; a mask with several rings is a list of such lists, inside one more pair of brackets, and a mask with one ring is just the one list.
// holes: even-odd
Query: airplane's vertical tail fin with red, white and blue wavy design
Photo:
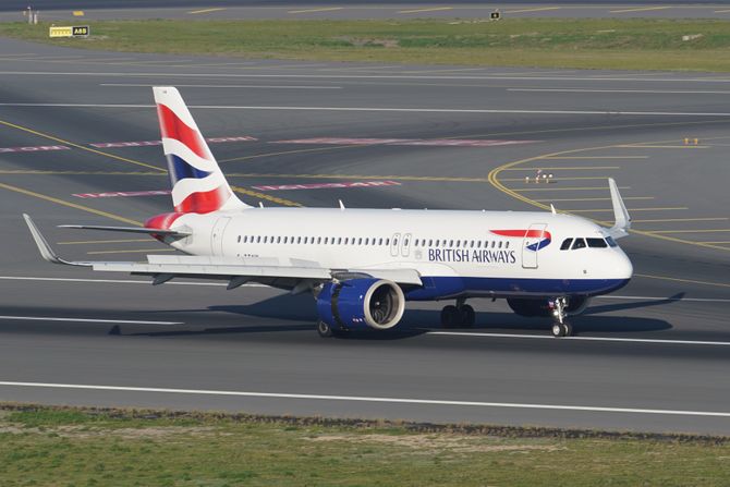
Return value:
[(231, 191), (178, 89), (156, 86), (153, 92), (175, 211), (247, 208)]

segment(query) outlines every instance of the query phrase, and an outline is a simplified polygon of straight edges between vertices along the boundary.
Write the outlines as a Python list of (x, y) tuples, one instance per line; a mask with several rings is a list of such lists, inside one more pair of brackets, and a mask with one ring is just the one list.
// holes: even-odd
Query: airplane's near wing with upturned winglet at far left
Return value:
[(146, 263), (136, 261), (73, 261), (58, 256), (29, 216), (23, 215), (44, 259), (53, 264), (90, 267), (94, 270), (151, 276), (153, 284), (170, 279), (198, 278), (228, 280), (229, 289), (246, 282), (260, 282), (292, 290), (307, 290), (318, 282), (370, 277), (399, 284), (422, 285), (415, 269), (329, 269), (318, 263), (288, 259), (231, 259), (194, 255), (148, 255)]

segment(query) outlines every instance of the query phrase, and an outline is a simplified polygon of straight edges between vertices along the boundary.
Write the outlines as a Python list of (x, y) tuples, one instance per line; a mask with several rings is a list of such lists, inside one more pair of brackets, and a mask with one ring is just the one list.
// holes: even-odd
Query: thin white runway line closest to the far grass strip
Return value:
[[(315, 64), (319, 65), (319, 64)], [(324, 64), (326, 65), (326, 64)], [(271, 66), (276, 70), (277, 66)], [(280, 68), (279, 68), (280, 69)], [(57, 71), (0, 71), (0, 74), (22, 76), (106, 76), (106, 77), (290, 77), (290, 78), (337, 78), (337, 80), (513, 80), (513, 81), (607, 81), (607, 82), (668, 82), (668, 83), (730, 83), (725, 78), (710, 77), (610, 77), (610, 76), (509, 76), (509, 75), (412, 75), (412, 74), (252, 74), (252, 73), (100, 73), (100, 72), (57, 72)]]

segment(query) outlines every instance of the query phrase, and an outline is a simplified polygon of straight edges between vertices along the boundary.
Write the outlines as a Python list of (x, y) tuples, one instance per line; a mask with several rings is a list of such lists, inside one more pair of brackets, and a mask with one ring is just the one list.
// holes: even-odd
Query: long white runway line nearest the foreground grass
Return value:
[(453, 401), (440, 399), (413, 399), (413, 398), (380, 398), (366, 395), (329, 395), (329, 394), (296, 394), (283, 392), (248, 392), (230, 390), (208, 389), (171, 389), (160, 387), (127, 387), (127, 386), (98, 386), (83, 383), (53, 383), (53, 382), (14, 382), (0, 381), (0, 386), (27, 387), (38, 389), (76, 389), (94, 391), (115, 392), (161, 392), (167, 394), (192, 394), (192, 395), (229, 395), (241, 398), (276, 398), (276, 399), (302, 399), (315, 401), (348, 401), (348, 402), (379, 402), (389, 404), (425, 404), (447, 406), (471, 406), (471, 407), (506, 407), (522, 410), (551, 410), (551, 411), (583, 411), (589, 413), (629, 413), (629, 414), (653, 414), (672, 416), (704, 416), (704, 417), (730, 417), (730, 412), (719, 411), (683, 411), (683, 410), (655, 410), (642, 407), (609, 407), (593, 405), (565, 405), (565, 404), (531, 404), (516, 402), (484, 402), (484, 401)]

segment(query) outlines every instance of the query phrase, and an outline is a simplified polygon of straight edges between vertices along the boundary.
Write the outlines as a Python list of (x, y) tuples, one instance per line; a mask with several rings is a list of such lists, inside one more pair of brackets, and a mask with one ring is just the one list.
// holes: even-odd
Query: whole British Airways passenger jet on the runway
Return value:
[(153, 88), (172, 187), (173, 210), (144, 228), (60, 226), (143, 233), (185, 255), (146, 263), (70, 261), (59, 257), (23, 215), (44, 259), (98, 271), (254, 282), (312, 293), (321, 337), (387, 330), (407, 301), (453, 300), (445, 328), (471, 327), (466, 300), (506, 299), (521, 316), (552, 319), (569, 337), (569, 316), (589, 299), (624, 287), (633, 267), (616, 240), (631, 218), (613, 179), (611, 228), (551, 211), (252, 207), (236, 197), (174, 87)]

